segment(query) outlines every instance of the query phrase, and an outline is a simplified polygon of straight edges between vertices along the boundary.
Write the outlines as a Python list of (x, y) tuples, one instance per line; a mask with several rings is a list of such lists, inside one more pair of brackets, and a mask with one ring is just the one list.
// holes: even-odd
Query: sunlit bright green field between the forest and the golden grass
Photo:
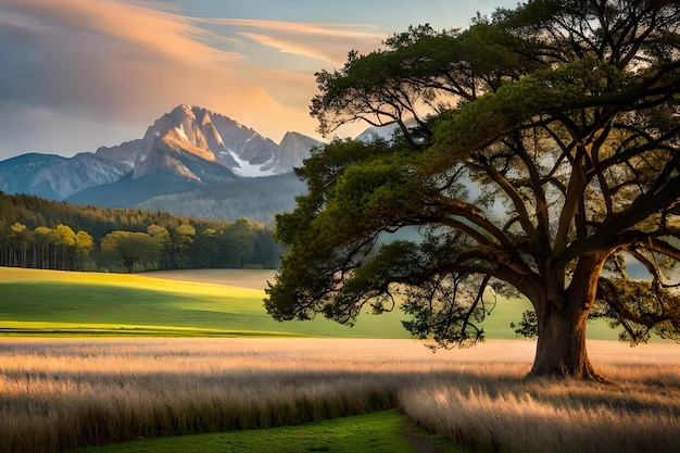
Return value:
[[(0, 267), (0, 335), (408, 338), (399, 310), (375, 316), (367, 307), (354, 327), (320, 317), (278, 323), (262, 302), (270, 270), (155, 275)], [(525, 301), (500, 301), (484, 323), (487, 337), (515, 338), (509, 323), (527, 307)], [(591, 338), (615, 338), (606, 327), (590, 330)]]

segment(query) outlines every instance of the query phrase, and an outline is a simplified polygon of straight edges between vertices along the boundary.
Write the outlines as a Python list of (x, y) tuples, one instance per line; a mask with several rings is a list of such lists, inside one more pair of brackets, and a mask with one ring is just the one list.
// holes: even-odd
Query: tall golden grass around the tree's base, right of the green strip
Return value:
[(420, 426), (475, 452), (678, 452), (680, 365), (652, 362), (604, 367), (617, 383), (521, 379), (526, 368), (496, 365), (399, 398)]

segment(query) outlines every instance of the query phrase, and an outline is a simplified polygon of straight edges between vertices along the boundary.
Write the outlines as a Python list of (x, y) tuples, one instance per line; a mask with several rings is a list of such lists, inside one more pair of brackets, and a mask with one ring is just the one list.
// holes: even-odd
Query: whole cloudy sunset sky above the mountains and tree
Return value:
[[(0, 160), (141, 138), (179, 104), (279, 142), (320, 138), (314, 73), (410, 25), (465, 28), (517, 0), (0, 0)], [(366, 124), (345, 126), (356, 136)]]

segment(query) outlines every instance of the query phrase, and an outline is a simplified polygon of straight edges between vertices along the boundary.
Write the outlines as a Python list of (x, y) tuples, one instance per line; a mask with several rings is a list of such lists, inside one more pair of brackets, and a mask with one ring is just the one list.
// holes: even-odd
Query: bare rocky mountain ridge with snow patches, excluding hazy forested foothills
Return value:
[(302, 165), (319, 144), (298, 133), (286, 134), (277, 144), (225, 115), (182, 104), (156, 119), (142, 138), (95, 153), (30, 153), (1, 161), (0, 190), (64, 200), (130, 172), (133, 179), (163, 175), (197, 184), (281, 175)]

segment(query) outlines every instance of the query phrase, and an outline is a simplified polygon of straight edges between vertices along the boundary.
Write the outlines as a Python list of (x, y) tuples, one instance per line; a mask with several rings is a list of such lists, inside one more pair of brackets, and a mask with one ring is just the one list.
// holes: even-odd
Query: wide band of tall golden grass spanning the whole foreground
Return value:
[(479, 451), (672, 452), (680, 348), (591, 344), (616, 385), (526, 380), (534, 345), (408, 340), (0, 340), (0, 452), (294, 425), (399, 405)]

